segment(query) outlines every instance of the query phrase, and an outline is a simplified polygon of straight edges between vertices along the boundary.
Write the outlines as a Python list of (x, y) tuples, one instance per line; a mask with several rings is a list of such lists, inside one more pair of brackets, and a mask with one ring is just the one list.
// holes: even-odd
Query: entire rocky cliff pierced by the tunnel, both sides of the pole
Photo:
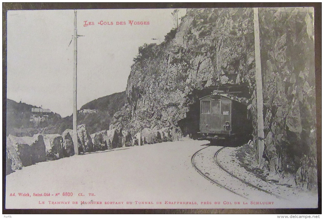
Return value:
[[(294, 176), (310, 189), (317, 183), (313, 12), (261, 8), (259, 21), (265, 124), (260, 168), (271, 177)], [(110, 129), (134, 135), (170, 127), (195, 138), (199, 98), (223, 83), (246, 88), (240, 101), (251, 104), (256, 139), (253, 9), (188, 9), (163, 43), (139, 48), (127, 103)]]

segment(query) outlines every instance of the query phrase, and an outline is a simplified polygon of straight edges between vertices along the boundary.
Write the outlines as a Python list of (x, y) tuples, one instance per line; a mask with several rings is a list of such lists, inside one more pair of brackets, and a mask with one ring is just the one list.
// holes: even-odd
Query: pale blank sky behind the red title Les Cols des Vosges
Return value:
[[(175, 27), (173, 11), (77, 10), (78, 35), (82, 35), (77, 40), (78, 109), (99, 97), (125, 91), (138, 47), (163, 42)], [(186, 9), (179, 9), (179, 18), (185, 13)], [(93, 25), (85, 26), (85, 21)], [(113, 25), (100, 25), (100, 21)], [(137, 21), (149, 24), (135, 25)], [(71, 115), (73, 34), (73, 10), (8, 11), (7, 98), (48, 108), (63, 117)]]

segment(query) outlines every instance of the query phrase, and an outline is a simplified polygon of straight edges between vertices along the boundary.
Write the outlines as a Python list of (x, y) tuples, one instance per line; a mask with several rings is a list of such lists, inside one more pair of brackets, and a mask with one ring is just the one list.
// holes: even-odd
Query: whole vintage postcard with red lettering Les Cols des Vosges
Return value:
[(6, 209), (317, 208), (314, 8), (7, 11)]

